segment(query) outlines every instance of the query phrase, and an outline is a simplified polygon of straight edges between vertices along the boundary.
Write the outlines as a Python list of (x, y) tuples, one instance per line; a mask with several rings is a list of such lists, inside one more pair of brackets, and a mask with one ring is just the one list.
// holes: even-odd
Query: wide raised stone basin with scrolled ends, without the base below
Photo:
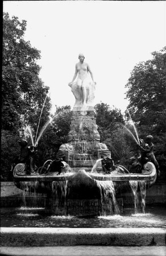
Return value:
[[(85, 197), (96, 197), (97, 182), (113, 181), (115, 192), (128, 191), (130, 184), (128, 181), (146, 181), (146, 187), (149, 188), (156, 181), (156, 168), (153, 163), (148, 162), (142, 170), (142, 174), (98, 174), (87, 172), (84, 169), (72, 173), (57, 175), (57, 172), (43, 175), (17, 175), (14, 173), (14, 183), (16, 187), (23, 189), (23, 183), (39, 193), (51, 193), (53, 182), (62, 184), (63, 181), (68, 182), (68, 187), (75, 195), (79, 194)], [(34, 188), (33, 188), (34, 186)], [(82, 193), (84, 191), (84, 193)], [(71, 193), (72, 193), (71, 192)]]

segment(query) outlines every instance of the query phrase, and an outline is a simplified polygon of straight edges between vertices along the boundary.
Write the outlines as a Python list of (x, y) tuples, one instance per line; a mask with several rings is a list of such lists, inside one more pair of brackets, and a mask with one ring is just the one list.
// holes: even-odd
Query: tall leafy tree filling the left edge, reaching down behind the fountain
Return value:
[[(24, 40), (26, 20), (3, 13), (1, 175), (10, 180), (11, 163), (19, 152), (19, 130), (27, 124), (34, 135), (48, 121), (48, 87), (39, 77), (40, 51)], [(43, 104), (45, 102), (44, 108)], [(42, 116), (39, 117), (43, 109)]]

